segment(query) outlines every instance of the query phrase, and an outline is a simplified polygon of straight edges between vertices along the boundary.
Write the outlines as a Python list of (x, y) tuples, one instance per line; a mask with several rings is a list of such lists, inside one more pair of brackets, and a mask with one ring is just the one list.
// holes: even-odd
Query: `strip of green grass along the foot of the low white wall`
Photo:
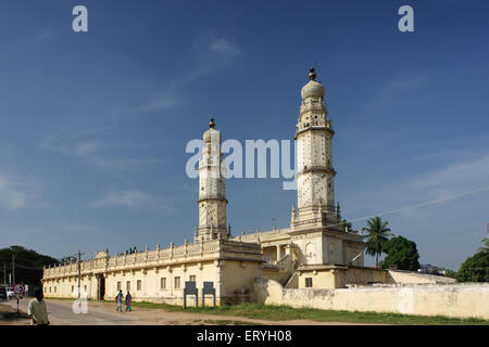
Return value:
[(286, 321), (306, 319), (316, 322), (343, 322), (369, 324), (403, 324), (403, 325), (489, 325), (489, 321), (481, 319), (456, 319), (448, 317), (424, 317), (400, 313), (350, 312), (331, 311), (313, 308), (293, 308), (290, 306), (266, 306), (259, 304), (241, 304), (234, 306), (189, 307), (152, 303), (133, 303), (134, 307), (147, 309), (164, 309), (173, 312), (193, 312), (220, 316), (238, 316), (268, 321)]

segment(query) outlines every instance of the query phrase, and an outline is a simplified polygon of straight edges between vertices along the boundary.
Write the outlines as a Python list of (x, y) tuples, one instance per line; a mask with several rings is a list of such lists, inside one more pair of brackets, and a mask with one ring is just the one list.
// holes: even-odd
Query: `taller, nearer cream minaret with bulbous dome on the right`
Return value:
[(328, 118), (325, 90), (311, 67), (310, 81), (302, 88), (302, 104), (296, 126), (298, 157), (298, 211), (292, 227), (336, 222), (335, 175), (331, 140), (335, 131)]

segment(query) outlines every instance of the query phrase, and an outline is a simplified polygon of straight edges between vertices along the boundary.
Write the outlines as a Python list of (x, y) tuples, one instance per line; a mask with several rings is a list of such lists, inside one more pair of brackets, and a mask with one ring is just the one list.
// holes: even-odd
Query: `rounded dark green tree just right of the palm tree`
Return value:
[(419, 254), (416, 243), (402, 236), (392, 237), (383, 245), (383, 252), (387, 254), (384, 258), (383, 268), (397, 265), (400, 270), (417, 271), (419, 269)]

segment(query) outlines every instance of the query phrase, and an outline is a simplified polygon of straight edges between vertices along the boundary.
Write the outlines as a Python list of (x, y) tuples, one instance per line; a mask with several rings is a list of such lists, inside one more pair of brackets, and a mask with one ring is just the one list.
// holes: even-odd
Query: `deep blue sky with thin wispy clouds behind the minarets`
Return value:
[[(84, 4), (89, 33), (72, 30)], [(398, 30), (414, 8), (415, 31)], [(383, 215), (452, 269), (489, 222), (484, 1), (70, 1), (0, 4), (1, 246), (55, 257), (191, 239), (185, 153), (292, 139), (314, 64), (334, 121), (343, 216)], [(283, 179), (231, 179), (234, 232), (287, 227)], [(372, 259), (367, 261), (372, 265)]]

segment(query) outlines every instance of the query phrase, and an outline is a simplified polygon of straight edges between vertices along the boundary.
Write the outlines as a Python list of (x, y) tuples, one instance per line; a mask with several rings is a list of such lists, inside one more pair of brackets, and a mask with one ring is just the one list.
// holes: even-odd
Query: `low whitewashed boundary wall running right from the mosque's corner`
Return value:
[(324, 310), (393, 312), (489, 320), (489, 283), (408, 284), (339, 290), (287, 290), (256, 279), (253, 299)]

